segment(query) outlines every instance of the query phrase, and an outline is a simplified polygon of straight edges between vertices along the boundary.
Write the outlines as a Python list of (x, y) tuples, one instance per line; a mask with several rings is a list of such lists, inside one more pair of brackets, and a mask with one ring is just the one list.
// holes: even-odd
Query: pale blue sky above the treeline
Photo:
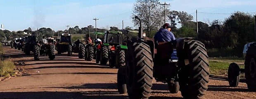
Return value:
[[(28, 27), (52, 28), (55, 31), (88, 25), (97, 28), (134, 26), (131, 14), (137, 0), (0, 0), (0, 24), (9, 31), (23, 31)], [(160, 0), (170, 10), (185, 11), (198, 21), (224, 21), (236, 11), (256, 13), (256, 0)], [(1, 28), (0, 28), (1, 29)]]

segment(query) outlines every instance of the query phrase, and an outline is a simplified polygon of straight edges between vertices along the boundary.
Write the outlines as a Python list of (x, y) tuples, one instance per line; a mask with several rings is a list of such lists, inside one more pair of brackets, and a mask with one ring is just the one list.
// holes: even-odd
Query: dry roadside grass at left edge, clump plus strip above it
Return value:
[(0, 80), (9, 78), (15, 75), (15, 65), (12, 59), (4, 59), (2, 55), (4, 54), (2, 43), (0, 43)]

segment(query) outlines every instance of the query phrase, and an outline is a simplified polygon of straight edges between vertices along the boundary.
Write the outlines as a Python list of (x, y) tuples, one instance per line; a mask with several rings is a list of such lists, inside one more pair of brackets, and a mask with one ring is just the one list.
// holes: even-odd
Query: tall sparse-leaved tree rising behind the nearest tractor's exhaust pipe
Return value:
[[(149, 35), (154, 27), (164, 24), (164, 8), (160, 6), (159, 0), (137, 0), (134, 4), (132, 17), (138, 16), (142, 19), (142, 27), (147, 28)], [(138, 25), (140, 22), (133, 19), (133, 23)]]

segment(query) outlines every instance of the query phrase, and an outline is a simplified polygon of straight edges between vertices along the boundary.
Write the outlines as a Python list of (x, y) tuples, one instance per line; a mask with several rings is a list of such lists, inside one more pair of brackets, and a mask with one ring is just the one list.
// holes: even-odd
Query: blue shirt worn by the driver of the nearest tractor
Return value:
[(173, 33), (165, 28), (161, 28), (154, 36), (154, 40), (157, 42), (172, 42), (176, 40)]

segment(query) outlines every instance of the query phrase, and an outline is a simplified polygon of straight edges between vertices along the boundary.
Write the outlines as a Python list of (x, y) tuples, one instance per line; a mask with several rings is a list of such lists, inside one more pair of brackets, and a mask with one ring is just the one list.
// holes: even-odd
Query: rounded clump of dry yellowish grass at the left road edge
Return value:
[(15, 65), (12, 59), (5, 59), (3, 61), (0, 61), (0, 76), (1, 77), (9, 77), (11, 75), (14, 75)]

